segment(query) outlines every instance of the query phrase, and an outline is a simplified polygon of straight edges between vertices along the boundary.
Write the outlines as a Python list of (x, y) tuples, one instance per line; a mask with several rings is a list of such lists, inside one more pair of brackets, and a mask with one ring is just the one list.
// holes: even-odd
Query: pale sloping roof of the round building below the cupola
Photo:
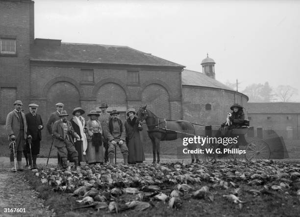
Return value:
[(182, 85), (192, 85), (192, 86), (201, 86), (201, 87), (214, 87), (227, 90), (233, 90), (230, 87), (222, 84), (216, 79), (210, 78), (207, 75), (198, 72), (184, 69), (182, 71)]

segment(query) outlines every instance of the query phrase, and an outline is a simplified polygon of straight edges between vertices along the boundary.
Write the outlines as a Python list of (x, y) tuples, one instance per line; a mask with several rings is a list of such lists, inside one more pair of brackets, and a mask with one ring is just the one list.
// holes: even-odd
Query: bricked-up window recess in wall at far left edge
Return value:
[(7, 114), (14, 109), (17, 100), (17, 88), (0, 88), (0, 123), (5, 124)]

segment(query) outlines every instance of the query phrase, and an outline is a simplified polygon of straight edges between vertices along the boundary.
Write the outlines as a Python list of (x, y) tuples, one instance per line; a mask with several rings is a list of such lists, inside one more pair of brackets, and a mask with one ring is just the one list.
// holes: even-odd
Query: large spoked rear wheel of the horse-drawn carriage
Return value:
[(246, 146), (246, 160), (268, 160), (271, 157), (269, 145), (260, 139), (253, 140)]

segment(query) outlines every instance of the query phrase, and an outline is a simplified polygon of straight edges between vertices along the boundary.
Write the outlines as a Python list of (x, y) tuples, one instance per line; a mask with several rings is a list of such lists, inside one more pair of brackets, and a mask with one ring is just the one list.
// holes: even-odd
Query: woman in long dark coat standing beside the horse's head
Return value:
[(135, 109), (128, 109), (125, 121), (126, 140), (128, 147), (128, 163), (143, 163), (145, 160), (144, 148), (141, 142), (140, 131), (143, 130), (141, 124), (137, 121)]

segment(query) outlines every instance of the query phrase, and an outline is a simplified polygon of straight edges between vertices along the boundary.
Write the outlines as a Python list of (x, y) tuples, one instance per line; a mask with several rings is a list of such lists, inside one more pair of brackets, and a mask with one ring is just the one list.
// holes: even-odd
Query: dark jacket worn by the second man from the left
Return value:
[[(29, 112), (25, 114), (26, 122), (27, 122), (27, 135), (32, 136), (32, 141), (42, 140), (41, 130), (44, 129), (43, 121), (41, 115), (35, 114), (35, 117)], [(38, 129), (38, 126), (42, 125), (42, 129)]]

